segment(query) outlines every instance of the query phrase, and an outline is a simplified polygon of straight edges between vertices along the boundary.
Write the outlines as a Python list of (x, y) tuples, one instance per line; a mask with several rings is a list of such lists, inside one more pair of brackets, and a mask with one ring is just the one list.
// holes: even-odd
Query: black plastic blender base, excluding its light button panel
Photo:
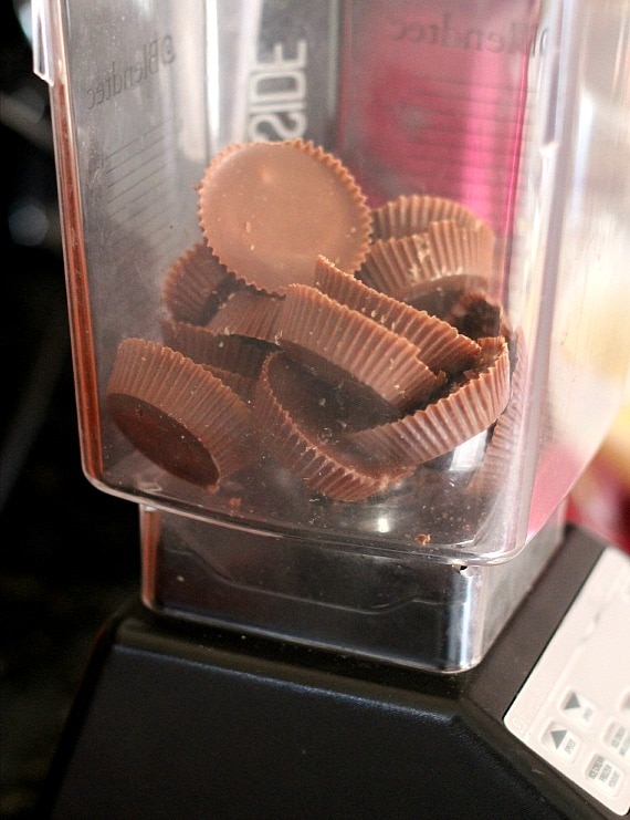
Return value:
[(94, 647), (41, 816), (618, 817), (502, 723), (601, 550), (569, 528), (484, 661), (459, 675), (172, 623), (133, 601)]

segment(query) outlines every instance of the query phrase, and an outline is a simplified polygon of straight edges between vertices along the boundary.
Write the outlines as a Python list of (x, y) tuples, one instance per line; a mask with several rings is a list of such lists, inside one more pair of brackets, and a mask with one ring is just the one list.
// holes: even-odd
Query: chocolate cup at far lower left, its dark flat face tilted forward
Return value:
[(251, 411), (221, 380), (144, 339), (118, 345), (107, 409), (144, 456), (174, 476), (216, 489), (251, 459)]

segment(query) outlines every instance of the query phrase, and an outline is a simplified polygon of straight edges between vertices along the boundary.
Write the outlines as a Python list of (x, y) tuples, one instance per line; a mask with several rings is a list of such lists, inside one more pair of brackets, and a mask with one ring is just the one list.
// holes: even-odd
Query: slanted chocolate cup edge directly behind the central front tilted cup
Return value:
[(419, 359), (434, 373), (458, 373), (471, 366), (479, 355), (479, 344), (458, 333), (448, 322), (379, 293), (325, 257), (317, 258), (315, 284), (330, 299), (407, 339), (418, 349)]

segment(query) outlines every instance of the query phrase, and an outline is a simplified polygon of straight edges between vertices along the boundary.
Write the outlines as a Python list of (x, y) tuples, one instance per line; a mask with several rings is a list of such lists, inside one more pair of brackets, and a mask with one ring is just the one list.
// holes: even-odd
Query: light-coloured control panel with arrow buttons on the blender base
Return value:
[(606, 549), (505, 715), (616, 814), (630, 811), (630, 559)]

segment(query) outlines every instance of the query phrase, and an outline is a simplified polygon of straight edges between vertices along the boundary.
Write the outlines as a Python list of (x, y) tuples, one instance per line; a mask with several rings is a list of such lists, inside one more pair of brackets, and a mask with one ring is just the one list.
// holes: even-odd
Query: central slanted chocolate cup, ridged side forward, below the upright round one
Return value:
[(441, 383), (406, 339), (304, 284), (287, 288), (277, 343), (358, 401), (382, 402), (397, 412), (427, 399)]

